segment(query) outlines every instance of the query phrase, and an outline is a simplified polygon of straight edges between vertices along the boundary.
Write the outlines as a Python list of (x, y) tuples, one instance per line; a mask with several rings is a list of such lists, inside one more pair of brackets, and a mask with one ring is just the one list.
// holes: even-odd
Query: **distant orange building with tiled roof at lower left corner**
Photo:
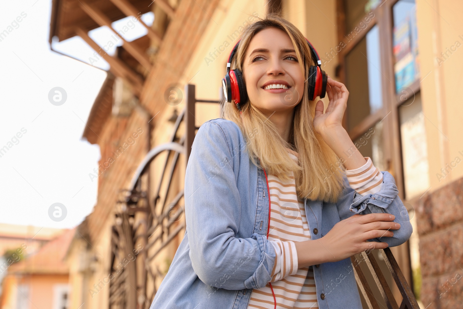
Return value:
[[(45, 228), (44, 232), (38, 237), (32, 234), (31, 238), (22, 239), (15, 248), (24, 258), (5, 269), (0, 308), (69, 308), (69, 266), (63, 258), (75, 229)], [(50, 235), (53, 236), (46, 239)], [(45, 243), (37, 247), (37, 242), (44, 240)]]

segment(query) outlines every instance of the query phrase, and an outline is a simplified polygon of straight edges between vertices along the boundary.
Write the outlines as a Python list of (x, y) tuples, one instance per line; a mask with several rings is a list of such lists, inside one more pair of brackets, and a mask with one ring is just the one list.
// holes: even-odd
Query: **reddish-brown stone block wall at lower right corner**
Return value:
[(462, 308), (463, 178), (415, 203), (421, 263), (421, 301), (436, 309)]

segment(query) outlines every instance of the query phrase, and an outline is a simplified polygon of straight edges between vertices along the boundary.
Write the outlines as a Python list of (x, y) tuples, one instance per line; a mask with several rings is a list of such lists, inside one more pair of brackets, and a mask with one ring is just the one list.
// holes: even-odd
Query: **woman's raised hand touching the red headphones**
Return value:
[(330, 135), (332, 130), (339, 127), (342, 128), (342, 120), (344, 111), (347, 107), (347, 98), (349, 91), (341, 82), (336, 82), (330, 76), (327, 76), (326, 94), (328, 99), (328, 107), (323, 114), (323, 101), (318, 101), (315, 106), (315, 117), (313, 118), (313, 128), (320, 135)]

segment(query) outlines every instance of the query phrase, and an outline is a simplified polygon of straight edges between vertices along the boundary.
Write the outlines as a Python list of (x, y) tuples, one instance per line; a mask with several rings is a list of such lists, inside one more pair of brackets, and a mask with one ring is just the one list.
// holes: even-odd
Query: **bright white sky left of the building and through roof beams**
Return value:
[[(50, 11), (51, 0), (2, 1), (0, 5), (0, 33), (8, 32), (0, 37), (0, 148), (8, 148), (0, 157), (0, 223), (71, 228), (96, 202), (98, 181), (92, 182), (88, 174), (98, 167), (100, 148), (81, 137), (109, 66), (100, 59), (94, 63), (98, 69), (51, 51)], [(154, 16), (147, 13), (142, 19), (151, 25)], [(128, 18), (113, 26), (130, 29), (124, 34), (127, 41), (146, 33), (139, 22)], [(104, 27), (89, 35), (100, 46), (108, 41), (121, 45), (111, 34)], [(94, 57), (94, 50), (78, 37), (54, 41), (53, 46), (86, 62)], [(108, 54), (113, 55), (115, 47)], [(54, 87), (67, 93), (60, 106), (48, 99)], [(22, 128), (27, 132), (9, 144)], [(56, 202), (67, 209), (59, 222), (48, 214)]]

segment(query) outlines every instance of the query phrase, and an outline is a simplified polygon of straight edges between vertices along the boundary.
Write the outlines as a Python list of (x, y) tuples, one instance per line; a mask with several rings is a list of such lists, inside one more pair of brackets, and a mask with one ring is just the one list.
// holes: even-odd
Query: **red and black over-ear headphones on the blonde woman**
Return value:
[[(248, 101), (248, 94), (246, 92), (246, 85), (244, 84), (243, 73), (241, 73), (239, 69), (230, 70), (232, 59), (235, 56), (240, 41), (241, 39), (238, 40), (238, 42), (235, 44), (235, 47), (233, 47), (233, 50), (228, 57), (227, 73), (225, 77), (222, 78), (222, 88), (224, 90), (225, 101), (232, 102), (232, 100), (234, 100), (238, 110), (241, 112), (239, 103), (244, 104)], [(309, 44), (313, 61), (317, 64), (311, 65), (309, 68), (308, 95), (309, 100), (313, 101), (317, 96), (320, 98), (325, 97), (327, 76), (325, 71), (321, 69), (321, 61), (317, 50), (313, 48), (312, 44), (310, 44), (307, 38), (306, 41)]]

